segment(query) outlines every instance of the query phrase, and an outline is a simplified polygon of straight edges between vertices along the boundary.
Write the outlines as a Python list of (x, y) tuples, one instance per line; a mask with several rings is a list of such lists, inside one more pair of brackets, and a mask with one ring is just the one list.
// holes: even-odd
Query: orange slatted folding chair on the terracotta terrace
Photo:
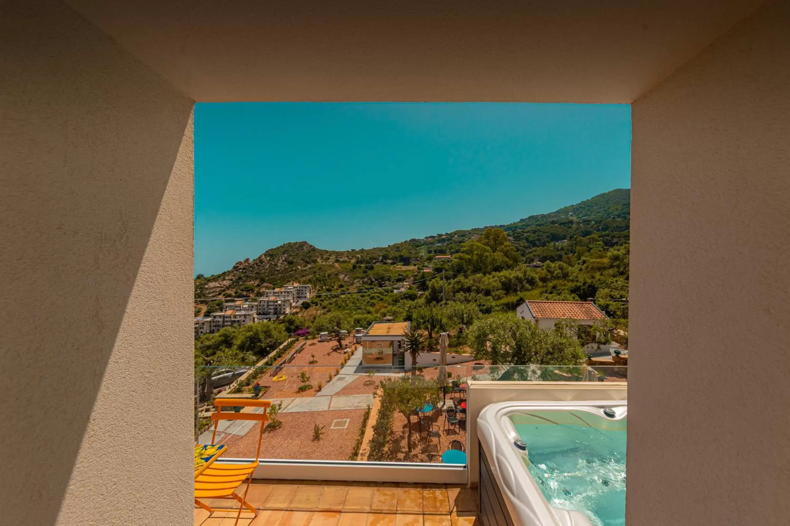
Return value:
[[(258, 467), (258, 457), (261, 456), (261, 442), (263, 440), (263, 428), (269, 420), (268, 409), (271, 407), (272, 402), (269, 400), (239, 400), (236, 398), (217, 398), (214, 401), (216, 412), (211, 415), (211, 420), (214, 420), (214, 432), (211, 437), (211, 443), (216, 440), (216, 427), (219, 425), (220, 420), (255, 420), (261, 423), (261, 428), (258, 431), (258, 447), (255, 450), (255, 460), (243, 464), (230, 464), (230, 463), (213, 463), (205, 471), (201, 472), (195, 477), (195, 504), (199, 505), (202, 509), (210, 513), (215, 511), (229, 511), (234, 508), (213, 508), (205, 502), (201, 502), (203, 498), (228, 498), (239, 502), (239, 513), (236, 513), (236, 520), (234, 524), (239, 523), (242, 509), (249, 509), (254, 513), (254, 517), (258, 516), (258, 509), (249, 502), (246, 502), (247, 491), (250, 490), (250, 483), (252, 483), (252, 474), (255, 468)], [(233, 407), (261, 407), (263, 412), (234, 412)], [(229, 411), (223, 411), (222, 408), (231, 408)], [(246, 479), (246, 487), (244, 494), (236, 493), (236, 489), (244, 483)]]

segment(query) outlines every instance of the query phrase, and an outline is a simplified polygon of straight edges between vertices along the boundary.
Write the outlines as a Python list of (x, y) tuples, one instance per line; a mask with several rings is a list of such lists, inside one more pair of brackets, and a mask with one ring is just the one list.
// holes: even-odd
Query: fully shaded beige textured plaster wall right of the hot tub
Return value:
[(790, 521), (790, 2), (633, 106), (628, 524)]

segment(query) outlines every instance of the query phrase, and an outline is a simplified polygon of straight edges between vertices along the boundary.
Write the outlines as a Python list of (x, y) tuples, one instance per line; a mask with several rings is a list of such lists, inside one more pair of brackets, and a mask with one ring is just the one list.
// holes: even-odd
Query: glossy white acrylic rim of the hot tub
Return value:
[[(525, 453), (513, 445), (521, 438), (509, 416), (529, 411), (585, 411), (604, 415), (604, 408), (613, 408), (615, 417), (627, 416), (626, 401), (535, 401), (498, 402), (487, 405), (477, 417), (477, 437), (486, 453), (510, 517), (516, 526), (588, 526), (591, 524), (583, 513), (552, 507), (537, 483), (532, 479), (524, 462)], [(529, 446), (528, 446), (529, 447)]]

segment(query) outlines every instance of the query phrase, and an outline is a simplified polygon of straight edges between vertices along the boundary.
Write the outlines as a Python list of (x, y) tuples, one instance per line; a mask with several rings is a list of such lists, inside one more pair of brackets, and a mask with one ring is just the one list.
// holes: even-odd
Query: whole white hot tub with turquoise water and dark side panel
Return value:
[(625, 524), (625, 401), (500, 402), (477, 420), (483, 526)]

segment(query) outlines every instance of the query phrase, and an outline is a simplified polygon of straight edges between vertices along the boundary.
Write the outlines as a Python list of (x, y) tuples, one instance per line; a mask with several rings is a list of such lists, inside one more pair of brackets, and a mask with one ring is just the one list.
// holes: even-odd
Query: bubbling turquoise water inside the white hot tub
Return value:
[[(540, 414), (545, 416), (547, 412)], [(585, 415), (593, 425), (595, 419), (603, 417)], [(527, 443), (529, 472), (549, 504), (585, 513), (597, 526), (626, 524), (624, 421), (614, 424), (620, 427), (617, 430), (583, 424), (513, 425)]]

